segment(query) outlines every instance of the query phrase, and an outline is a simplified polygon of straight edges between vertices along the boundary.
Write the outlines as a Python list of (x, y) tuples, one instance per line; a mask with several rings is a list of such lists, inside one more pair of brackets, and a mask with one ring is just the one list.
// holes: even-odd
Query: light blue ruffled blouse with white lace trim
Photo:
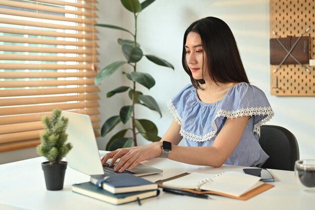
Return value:
[(274, 115), (266, 95), (248, 83), (239, 83), (228, 90), (220, 101), (204, 103), (190, 84), (184, 87), (167, 106), (178, 124), (188, 147), (211, 147), (227, 118), (252, 116), (238, 146), (224, 164), (260, 167), (269, 156), (258, 139), (260, 126)]

